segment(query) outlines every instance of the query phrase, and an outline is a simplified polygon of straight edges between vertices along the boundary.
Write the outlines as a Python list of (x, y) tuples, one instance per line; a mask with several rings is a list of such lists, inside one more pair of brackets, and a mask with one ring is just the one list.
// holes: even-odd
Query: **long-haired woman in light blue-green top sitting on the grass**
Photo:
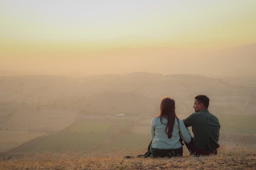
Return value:
[(153, 157), (182, 156), (183, 150), (180, 138), (189, 143), (191, 136), (183, 121), (176, 116), (173, 99), (162, 99), (160, 113), (152, 120), (151, 135), (151, 153)]

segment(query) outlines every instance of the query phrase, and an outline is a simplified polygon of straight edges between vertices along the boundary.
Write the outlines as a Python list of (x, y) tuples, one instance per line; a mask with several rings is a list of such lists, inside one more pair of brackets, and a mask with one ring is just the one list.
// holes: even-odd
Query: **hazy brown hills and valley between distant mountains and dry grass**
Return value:
[[(130, 139), (139, 137), (141, 140), (137, 141), (144, 145), (149, 140), (151, 118), (158, 114), (164, 96), (175, 99), (178, 116), (185, 118), (194, 111), (195, 95), (202, 93), (209, 96), (209, 109), (220, 118), (222, 133), (256, 133), (253, 123), (255, 91), (199, 75), (135, 72), (87, 78), (0, 77), (0, 90), (0, 134), (3, 136), (0, 152), (11, 149), (15, 152), (118, 150), (122, 146), (111, 143), (130, 141), (125, 143), (129, 148), (131, 143), (136, 143)], [(80, 125), (91, 126), (90, 123), (99, 127), (105, 123), (110, 125), (103, 134), (97, 131), (77, 133), (69, 129), (72, 126), (82, 129)], [(87, 128), (94, 129), (90, 126)], [(63, 142), (65, 137), (68, 139)], [(56, 142), (49, 144), (49, 141)], [(77, 143), (76, 148), (69, 147), (77, 141), (82, 142)], [(87, 141), (91, 147), (84, 148), (83, 143)]]

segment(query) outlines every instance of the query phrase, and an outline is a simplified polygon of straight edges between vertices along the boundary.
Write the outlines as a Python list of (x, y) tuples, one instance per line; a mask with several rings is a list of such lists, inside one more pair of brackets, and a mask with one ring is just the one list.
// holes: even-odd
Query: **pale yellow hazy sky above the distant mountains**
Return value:
[[(1, 0), (0, 68), (54, 71), (62, 66), (67, 71), (75, 71), (76, 68), (81, 70), (87, 67), (84, 72), (89, 74), (96, 70), (97, 74), (142, 71), (136, 68), (122, 70), (120, 64), (100, 71), (89, 67), (97, 67), (100, 60), (99, 67), (102, 68), (108, 62), (115, 62), (116, 57), (123, 56), (137, 57), (130, 63), (146, 60), (140, 58), (138, 49), (141, 48), (175, 48), (182, 51), (255, 43), (255, 9), (256, 1), (250, 0)], [(136, 51), (132, 56), (122, 55), (127, 49), (131, 53), (134, 48)], [(114, 58), (113, 53), (116, 54)], [(123, 62), (121, 64), (125, 64), (125, 59)], [(146, 71), (150, 70), (150, 66), (144, 66)]]

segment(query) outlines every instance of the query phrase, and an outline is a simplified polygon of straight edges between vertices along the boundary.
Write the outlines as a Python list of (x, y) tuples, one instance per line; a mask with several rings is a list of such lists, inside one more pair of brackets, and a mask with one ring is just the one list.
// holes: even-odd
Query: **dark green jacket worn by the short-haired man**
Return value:
[(200, 151), (210, 152), (219, 148), (219, 119), (208, 109), (195, 112), (183, 119), (186, 127), (192, 126), (195, 147)]

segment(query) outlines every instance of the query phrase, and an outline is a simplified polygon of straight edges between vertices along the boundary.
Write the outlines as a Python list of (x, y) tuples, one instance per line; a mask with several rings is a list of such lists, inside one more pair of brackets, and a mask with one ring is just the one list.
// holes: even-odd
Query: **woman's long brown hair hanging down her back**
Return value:
[(167, 119), (165, 133), (168, 135), (168, 138), (171, 138), (173, 129), (174, 129), (175, 118), (177, 117), (175, 113), (175, 101), (173, 99), (170, 99), (170, 98), (162, 99), (160, 104), (159, 116), (160, 116), (161, 123), (162, 123), (162, 118)]

